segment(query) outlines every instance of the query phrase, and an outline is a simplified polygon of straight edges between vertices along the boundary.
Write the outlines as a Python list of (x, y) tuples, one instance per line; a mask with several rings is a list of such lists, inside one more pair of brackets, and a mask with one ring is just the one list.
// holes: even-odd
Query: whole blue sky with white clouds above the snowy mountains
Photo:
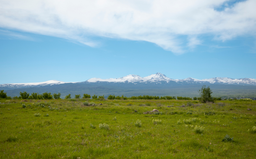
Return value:
[[(17, 9), (14, 2), (0, 4), (0, 84), (51, 79), (81, 82), (157, 72), (172, 79), (256, 79), (253, 0), (209, 0), (172, 13), (166, 13), (169, 10), (164, 6), (174, 4), (164, 0), (162, 5), (157, 3), (160, 10), (153, 1), (117, 1), (103, 9), (97, 3), (90, 4), (96, 11), (88, 17), (81, 16), (83, 7), (76, 13), (70, 10), (69, 17), (61, 11), (65, 5), (43, 1), (52, 9), (47, 15), (40, 4), (25, 3)], [(68, 0), (65, 3), (69, 5)], [(115, 10), (115, 5), (123, 9)], [(37, 7), (39, 11), (31, 9)], [(21, 15), (10, 15), (10, 11)]]

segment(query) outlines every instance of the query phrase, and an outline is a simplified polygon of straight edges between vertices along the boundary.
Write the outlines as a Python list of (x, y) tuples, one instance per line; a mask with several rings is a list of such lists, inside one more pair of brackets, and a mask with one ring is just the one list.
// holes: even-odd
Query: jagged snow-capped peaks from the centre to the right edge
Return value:
[(185, 78), (185, 79), (170, 79), (166, 77), (165, 74), (156, 73), (151, 74), (147, 77), (140, 77), (139, 75), (130, 74), (125, 77), (120, 78), (110, 78), (110, 79), (100, 79), (100, 78), (91, 78), (86, 82), (170, 82), (174, 81), (177, 83), (210, 83), (210, 84), (236, 84), (236, 85), (256, 85), (256, 79), (251, 78), (240, 78), (232, 79), (227, 77), (215, 77), (210, 79), (195, 79), (195, 78)]

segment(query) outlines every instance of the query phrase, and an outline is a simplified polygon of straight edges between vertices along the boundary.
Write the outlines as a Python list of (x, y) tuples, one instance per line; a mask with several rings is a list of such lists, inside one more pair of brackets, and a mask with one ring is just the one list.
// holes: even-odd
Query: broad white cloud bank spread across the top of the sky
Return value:
[[(149, 41), (183, 54), (202, 43), (256, 35), (256, 1), (228, 0), (0, 0), (0, 27), (97, 46), (90, 36)], [(214, 10), (226, 6), (222, 11)], [(180, 39), (187, 36), (188, 42)], [(184, 48), (185, 47), (185, 48)]]

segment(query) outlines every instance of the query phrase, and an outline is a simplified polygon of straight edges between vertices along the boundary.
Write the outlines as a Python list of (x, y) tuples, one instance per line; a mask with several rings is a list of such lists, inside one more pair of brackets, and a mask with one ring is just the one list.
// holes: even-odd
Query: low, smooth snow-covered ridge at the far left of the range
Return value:
[(7, 89), (17, 89), (17, 88), (27, 88), (27, 87), (42, 87), (47, 85), (60, 85), (63, 83), (76, 83), (76, 82), (62, 82), (57, 80), (50, 80), (45, 82), (36, 82), (36, 83), (9, 83), (9, 84), (2, 84), (0, 88), (7, 88)]

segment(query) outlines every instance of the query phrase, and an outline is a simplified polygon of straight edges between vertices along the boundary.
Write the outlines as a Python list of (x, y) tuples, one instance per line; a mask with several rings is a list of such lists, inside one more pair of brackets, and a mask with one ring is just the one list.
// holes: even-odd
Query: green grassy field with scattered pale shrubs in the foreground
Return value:
[(84, 101), (0, 100), (0, 158), (256, 158), (255, 101)]

